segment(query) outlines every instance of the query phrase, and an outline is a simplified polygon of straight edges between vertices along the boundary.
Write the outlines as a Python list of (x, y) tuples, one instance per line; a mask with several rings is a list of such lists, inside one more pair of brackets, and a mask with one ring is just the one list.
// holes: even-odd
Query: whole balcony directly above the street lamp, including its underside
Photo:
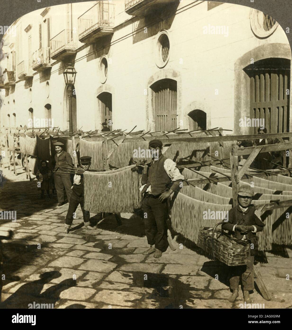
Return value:
[(76, 54), (77, 33), (73, 30), (63, 30), (50, 40), (51, 59), (62, 60)]

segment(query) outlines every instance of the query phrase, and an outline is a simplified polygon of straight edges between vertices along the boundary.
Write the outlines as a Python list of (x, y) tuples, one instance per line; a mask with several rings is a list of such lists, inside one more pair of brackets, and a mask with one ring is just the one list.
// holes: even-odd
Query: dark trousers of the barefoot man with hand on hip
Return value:
[(167, 200), (160, 202), (158, 198), (144, 195), (143, 210), (147, 216), (144, 218), (147, 242), (155, 244), (155, 248), (165, 252), (168, 248), (167, 241)]

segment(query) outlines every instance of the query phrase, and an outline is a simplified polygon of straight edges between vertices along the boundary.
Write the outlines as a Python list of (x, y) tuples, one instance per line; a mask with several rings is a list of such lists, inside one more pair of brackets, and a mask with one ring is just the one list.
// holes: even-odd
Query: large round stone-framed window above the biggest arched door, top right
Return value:
[(259, 38), (267, 38), (275, 32), (279, 23), (270, 15), (256, 9), (250, 14), (252, 32)]

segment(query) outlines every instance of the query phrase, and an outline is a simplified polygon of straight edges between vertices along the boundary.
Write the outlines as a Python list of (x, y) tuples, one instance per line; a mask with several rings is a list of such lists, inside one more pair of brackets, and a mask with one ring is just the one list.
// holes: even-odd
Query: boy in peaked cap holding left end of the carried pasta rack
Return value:
[[(80, 157), (81, 168), (85, 171), (93, 172), (89, 169), (91, 165), (91, 157), (83, 156)], [(65, 233), (68, 234), (71, 224), (73, 222), (73, 215), (76, 212), (78, 205), (80, 204), (83, 213), (83, 222), (86, 229), (95, 229), (90, 226), (90, 213), (84, 210), (84, 182), (83, 174), (74, 175), (74, 184), (71, 187), (72, 195), (70, 198), (69, 208), (65, 220)]]

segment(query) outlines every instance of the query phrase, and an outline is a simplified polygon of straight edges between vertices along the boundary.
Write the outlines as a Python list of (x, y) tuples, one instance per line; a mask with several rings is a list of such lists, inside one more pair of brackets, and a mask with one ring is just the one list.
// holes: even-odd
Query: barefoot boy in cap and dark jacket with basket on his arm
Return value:
[(232, 303), (239, 296), (240, 278), (243, 285), (243, 298), (247, 304), (251, 303), (249, 291), (254, 290), (253, 259), (254, 251), (258, 247), (256, 233), (262, 231), (265, 225), (260, 220), (263, 206), (255, 210), (251, 205), (253, 196), (254, 191), (250, 185), (240, 186), (237, 196), (238, 205), (228, 212), (228, 222), (222, 225), (222, 229), (228, 230), (232, 236), (249, 243), (247, 265), (229, 267), (230, 289), (233, 291), (228, 300)]

